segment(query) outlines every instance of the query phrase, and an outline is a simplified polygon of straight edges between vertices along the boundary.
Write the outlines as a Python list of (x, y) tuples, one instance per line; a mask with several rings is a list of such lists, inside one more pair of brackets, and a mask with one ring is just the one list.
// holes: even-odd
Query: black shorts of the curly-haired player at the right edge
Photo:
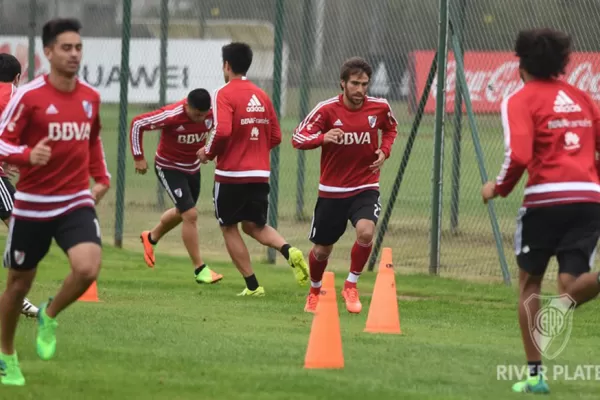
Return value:
[(543, 275), (552, 256), (558, 272), (579, 276), (592, 268), (600, 238), (600, 204), (521, 208), (515, 233), (519, 268)]

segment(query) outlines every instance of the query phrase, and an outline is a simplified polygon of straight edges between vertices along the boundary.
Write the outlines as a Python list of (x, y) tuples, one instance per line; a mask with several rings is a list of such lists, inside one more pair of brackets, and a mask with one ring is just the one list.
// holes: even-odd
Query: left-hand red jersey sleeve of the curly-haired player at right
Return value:
[(496, 178), (496, 193), (506, 197), (514, 189), (533, 156), (534, 122), (528, 105), (507, 97), (501, 107), (504, 129), (504, 163)]

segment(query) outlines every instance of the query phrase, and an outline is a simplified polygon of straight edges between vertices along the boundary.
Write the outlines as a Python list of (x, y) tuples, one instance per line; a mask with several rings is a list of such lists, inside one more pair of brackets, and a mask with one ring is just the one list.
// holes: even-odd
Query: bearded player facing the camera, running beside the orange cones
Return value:
[(381, 211), (380, 169), (390, 157), (397, 136), (389, 103), (367, 96), (372, 73), (362, 58), (344, 62), (340, 71), (342, 93), (318, 103), (292, 136), (296, 149), (321, 147), (319, 196), (309, 234), (314, 246), (308, 257), (311, 288), (304, 307), (307, 312), (317, 308), (327, 260), (348, 221), (356, 230), (356, 241), (342, 297), (349, 312), (360, 313), (362, 309), (356, 284), (371, 254)]

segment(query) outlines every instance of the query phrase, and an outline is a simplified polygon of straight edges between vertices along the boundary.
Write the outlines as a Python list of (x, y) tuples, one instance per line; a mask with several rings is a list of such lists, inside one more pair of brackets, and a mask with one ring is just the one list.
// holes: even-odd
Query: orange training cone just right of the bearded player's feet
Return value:
[(396, 274), (392, 264), (392, 249), (389, 247), (385, 247), (381, 255), (364, 331), (370, 333), (402, 333), (398, 313)]

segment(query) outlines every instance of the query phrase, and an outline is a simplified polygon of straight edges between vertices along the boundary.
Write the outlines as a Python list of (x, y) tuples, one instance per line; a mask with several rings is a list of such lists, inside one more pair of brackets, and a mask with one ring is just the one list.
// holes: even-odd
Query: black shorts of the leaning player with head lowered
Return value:
[(200, 196), (200, 171), (186, 174), (154, 165), (154, 172), (180, 213), (196, 207)]

